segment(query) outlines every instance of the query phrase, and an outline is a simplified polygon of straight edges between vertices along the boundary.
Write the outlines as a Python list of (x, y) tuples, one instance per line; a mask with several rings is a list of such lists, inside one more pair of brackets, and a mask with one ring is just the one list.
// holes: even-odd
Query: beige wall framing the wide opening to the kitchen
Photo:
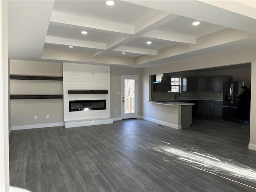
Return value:
[[(147, 104), (143, 101), (148, 101), (150, 95), (149, 93), (149, 75), (151, 74), (160, 74), (166, 72), (179, 72), (187, 70), (196, 70), (202, 68), (218, 67), (218, 66), (227, 66), (234, 64), (242, 64), (252, 62), (252, 86), (251, 86), (251, 97), (256, 98), (255, 94), (255, 68), (256, 68), (256, 48), (247, 48), (244, 50), (236, 50), (232, 52), (225, 52), (220, 54), (214, 54), (210, 56), (204, 56), (200, 58), (193, 58), (190, 60), (184, 60), (180, 62), (173, 62), (170, 64), (165, 64), (161, 66), (155, 66), (150, 68), (144, 68), (142, 70), (142, 116), (149, 117), (152, 113), (152, 110), (149, 109)], [(250, 145), (249, 147), (256, 150), (256, 100), (251, 100), (251, 122), (250, 122)], [(158, 116), (156, 114), (155, 118)]]

